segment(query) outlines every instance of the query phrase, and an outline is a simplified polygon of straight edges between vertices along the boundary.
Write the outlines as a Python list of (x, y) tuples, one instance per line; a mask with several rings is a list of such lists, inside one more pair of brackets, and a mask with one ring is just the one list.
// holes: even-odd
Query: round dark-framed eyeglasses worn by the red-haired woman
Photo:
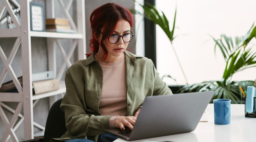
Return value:
[(117, 43), (119, 41), (120, 37), (122, 37), (124, 42), (130, 42), (132, 40), (133, 36), (134, 36), (134, 34), (132, 31), (131, 31), (131, 33), (127, 33), (127, 34), (123, 34), (123, 35), (113, 34), (109, 37), (109, 43), (111, 43), (111, 44)]

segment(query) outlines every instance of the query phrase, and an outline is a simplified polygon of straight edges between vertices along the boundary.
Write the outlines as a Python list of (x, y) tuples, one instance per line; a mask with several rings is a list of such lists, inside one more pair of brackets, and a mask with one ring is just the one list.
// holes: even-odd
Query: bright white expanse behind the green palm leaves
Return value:
[[(173, 41), (188, 83), (218, 80), (222, 78), (225, 61), (208, 35), (219, 38), (221, 34), (243, 36), (256, 22), (255, 0), (156, 0), (156, 7), (163, 11), (172, 26), (177, 4), (176, 28)], [(169, 74), (177, 84), (185, 84), (185, 79), (174, 56), (170, 41), (157, 26), (157, 70), (160, 76)], [(254, 49), (256, 46), (254, 45)], [(233, 75), (232, 80), (254, 80), (256, 68), (247, 69)], [(168, 84), (176, 83), (169, 78)]]

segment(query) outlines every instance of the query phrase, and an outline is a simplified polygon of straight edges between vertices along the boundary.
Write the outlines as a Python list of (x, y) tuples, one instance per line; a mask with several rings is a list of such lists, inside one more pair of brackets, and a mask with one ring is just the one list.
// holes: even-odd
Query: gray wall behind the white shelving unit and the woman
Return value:
[[(2, 2), (2, 0), (0, 0), (0, 4), (1, 4), (1, 2)], [(44, 0), (33, 0), (33, 2), (43, 3), (43, 4), (45, 3)], [(55, 3), (57, 3), (57, 2), (58, 1), (55, 1)], [(64, 0), (64, 2), (65, 2), (65, 0)], [(128, 9), (134, 7), (134, 2), (132, 0), (104, 0), (104, 1), (102, 1), (102, 0), (86, 0), (85, 1), (85, 15), (86, 15), (85, 18), (86, 18), (86, 43), (87, 43), (86, 50), (87, 50), (87, 53), (91, 52), (89, 49), (89, 39), (91, 36), (90, 25), (89, 25), (90, 24), (89, 23), (90, 13), (98, 6), (100, 6), (104, 3), (107, 3), (107, 2), (115, 2), (118, 4), (124, 5)], [(55, 4), (55, 5), (57, 5), (57, 4)], [(76, 22), (75, 6), (76, 6), (76, 3), (74, 1), (73, 7), (70, 8), (70, 13), (71, 13), (71, 16), (74, 17), (74, 21)], [(73, 12), (73, 10), (74, 10), (74, 12)], [(5, 14), (6, 14), (6, 11), (4, 12), (3, 15), (5, 15)], [(55, 6), (55, 16), (65, 18), (62, 14), (62, 10), (58, 6)], [(0, 25), (0, 28), (7, 28), (7, 26)], [(15, 40), (16, 40), (16, 38), (0, 38), (0, 46), (2, 47), (2, 49), (5, 52), (7, 57), (9, 57), (9, 54), (12, 50)], [(66, 39), (66, 40), (62, 39), (61, 40), (63, 48), (65, 48), (66, 52), (71, 45), (71, 41), (72, 41), (71, 39)], [(130, 50), (131, 52), (135, 53), (135, 40), (133, 40), (131, 43), (129, 43), (128, 48), (131, 49)], [(57, 47), (56, 47), (56, 51), (57, 51), (56, 57), (57, 57), (57, 72), (58, 72), (60, 66), (63, 63), (63, 58), (62, 58)], [(47, 64), (48, 60), (47, 60), (47, 40), (46, 40), (46, 38), (37, 38), (37, 37), (31, 38), (31, 53), (32, 53), (32, 72), (34, 73), (34, 72), (47, 71), (48, 70), (48, 64)], [(71, 57), (72, 63), (75, 60), (77, 60), (76, 53), (77, 52), (75, 51), (75, 54), (73, 55), (73, 57)], [(18, 52), (16, 53), (16, 56), (12, 62), (12, 68), (13, 68), (16, 76), (22, 76), (21, 47), (19, 47)], [(0, 60), (0, 72), (2, 71), (2, 69), (3, 69), (3, 63), (2, 63), (2, 60)], [(11, 78), (9, 75), (7, 75), (5, 78), (5, 81), (9, 81), (9, 80), (11, 80)], [(6, 105), (12, 107), (13, 109), (15, 109), (17, 107), (17, 103), (13, 103), (13, 102), (4, 102), (4, 103)], [(43, 126), (45, 126), (47, 115), (48, 115), (48, 110), (49, 110), (48, 104), (49, 104), (48, 98), (44, 98), (44, 99), (41, 99), (33, 109), (34, 121)], [(10, 121), (12, 118), (12, 113), (5, 109), (4, 109), (4, 111)], [(21, 111), (21, 113), (23, 113), (23, 111)], [(5, 131), (6, 131), (5, 125), (4, 125), (3, 121), (0, 119), (0, 140), (3, 138)], [(24, 132), (23, 131), (24, 131), (24, 128), (23, 128), (23, 123), (22, 123), (22, 125), (15, 132), (19, 141), (24, 140)], [(34, 127), (34, 132), (38, 132), (38, 131), (39, 131), (39, 129)], [(9, 139), (9, 141), (12, 141), (12, 140)]]

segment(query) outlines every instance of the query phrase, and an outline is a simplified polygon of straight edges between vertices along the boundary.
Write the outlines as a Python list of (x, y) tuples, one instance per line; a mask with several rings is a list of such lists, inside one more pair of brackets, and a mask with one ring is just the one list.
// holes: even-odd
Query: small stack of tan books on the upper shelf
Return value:
[(69, 20), (62, 18), (45, 19), (45, 28), (47, 32), (74, 33), (70, 28)]

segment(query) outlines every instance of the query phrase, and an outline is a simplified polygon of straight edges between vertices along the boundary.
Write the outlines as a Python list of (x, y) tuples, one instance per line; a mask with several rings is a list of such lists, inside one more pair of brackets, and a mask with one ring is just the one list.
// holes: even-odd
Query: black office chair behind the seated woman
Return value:
[(61, 101), (62, 99), (56, 101), (49, 110), (44, 136), (35, 137), (34, 139), (23, 142), (49, 142), (51, 138), (59, 138), (67, 131), (65, 125), (65, 115), (60, 109)]

